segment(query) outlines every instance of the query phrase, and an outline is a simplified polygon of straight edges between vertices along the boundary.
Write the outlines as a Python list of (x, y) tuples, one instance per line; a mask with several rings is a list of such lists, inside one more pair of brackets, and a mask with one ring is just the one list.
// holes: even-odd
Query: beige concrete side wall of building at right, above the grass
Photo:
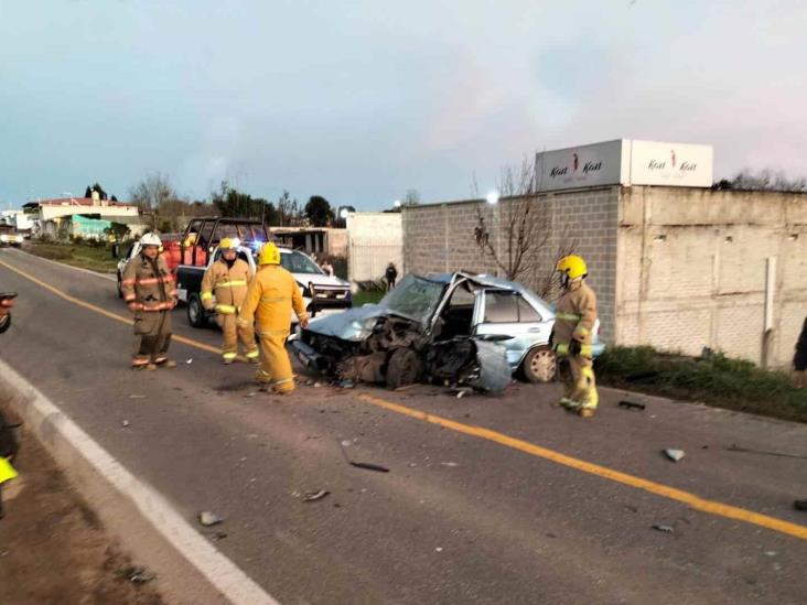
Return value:
[[(764, 335), (766, 259), (775, 258)], [(807, 314), (807, 195), (626, 187), (616, 342), (787, 366)]]

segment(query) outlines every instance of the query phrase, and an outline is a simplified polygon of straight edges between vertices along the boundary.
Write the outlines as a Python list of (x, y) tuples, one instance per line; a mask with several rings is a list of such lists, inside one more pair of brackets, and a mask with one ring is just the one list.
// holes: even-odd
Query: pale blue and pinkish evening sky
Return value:
[(618, 138), (801, 176), (805, 24), (800, 0), (0, 0), (0, 207), (161, 173), (384, 209)]

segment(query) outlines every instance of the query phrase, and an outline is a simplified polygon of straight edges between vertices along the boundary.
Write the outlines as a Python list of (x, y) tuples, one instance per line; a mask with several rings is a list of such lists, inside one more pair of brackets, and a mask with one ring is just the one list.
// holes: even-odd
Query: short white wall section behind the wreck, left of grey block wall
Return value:
[(347, 279), (380, 280), (387, 264), (404, 267), (404, 234), (398, 213), (347, 215)]

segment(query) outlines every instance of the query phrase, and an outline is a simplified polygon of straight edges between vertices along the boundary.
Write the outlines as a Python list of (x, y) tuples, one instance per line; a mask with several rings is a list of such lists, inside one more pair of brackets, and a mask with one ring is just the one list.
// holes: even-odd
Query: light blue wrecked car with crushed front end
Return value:
[[(555, 377), (552, 307), (517, 282), (487, 276), (406, 276), (378, 304), (314, 320), (292, 352), (340, 380), (396, 389), (418, 381), (502, 392), (513, 372)], [(596, 333), (596, 329), (595, 329)], [(594, 342), (595, 354), (603, 345)]]

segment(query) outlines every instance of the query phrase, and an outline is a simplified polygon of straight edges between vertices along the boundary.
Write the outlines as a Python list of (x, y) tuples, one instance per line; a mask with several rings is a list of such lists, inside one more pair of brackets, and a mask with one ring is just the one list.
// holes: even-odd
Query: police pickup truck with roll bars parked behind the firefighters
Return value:
[[(213, 313), (202, 306), (202, 278), (213, 262), (220, 258), (218, 244), (225, 237), (240, 241), (238, 256), (256, 271), (256, 256), (269, 234), (260, 222), (239, 218), (194, 218), (177, 241), (163, 242), (165, 261), (176, 278), (180, 302), (187, 305), (187, 321), (194, 327), (204, 327)], [(294, 279), (303, 295), (306, 311), (320, 317), (349, 309), (353, 305), (349, 282), (329, 276), (308, 255), (279, 247), (280, 263)], [(140, 252), (139, 244), (128, 251), (118, 266), (118, 292), (120, 279), (128, 259)], [(292, 324), (297, 316), (292, 314)]]

